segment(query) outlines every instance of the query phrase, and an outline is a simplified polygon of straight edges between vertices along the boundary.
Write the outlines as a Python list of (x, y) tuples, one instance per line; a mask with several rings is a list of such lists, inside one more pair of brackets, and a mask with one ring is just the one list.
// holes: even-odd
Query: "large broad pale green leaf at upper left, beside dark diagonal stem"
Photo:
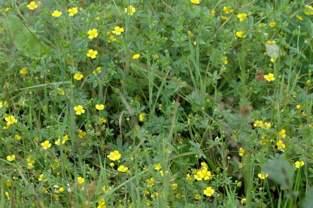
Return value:
[(8, 17), (8, 28), (13, 43), (23, 55), (32, 59), (40, 58), (40, 44), (22, 23), (20, 18), (10, 15)]

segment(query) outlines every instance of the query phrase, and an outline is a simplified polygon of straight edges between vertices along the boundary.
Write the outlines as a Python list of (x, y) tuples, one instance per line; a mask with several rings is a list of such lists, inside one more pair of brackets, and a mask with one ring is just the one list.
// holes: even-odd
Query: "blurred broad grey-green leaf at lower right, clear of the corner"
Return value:
[(281, 185), (284, 190), (293, 187), (293, 169), (288, 161), (271, 161), (262, 166), (262, 171), (268, 173), (268, 177)]

